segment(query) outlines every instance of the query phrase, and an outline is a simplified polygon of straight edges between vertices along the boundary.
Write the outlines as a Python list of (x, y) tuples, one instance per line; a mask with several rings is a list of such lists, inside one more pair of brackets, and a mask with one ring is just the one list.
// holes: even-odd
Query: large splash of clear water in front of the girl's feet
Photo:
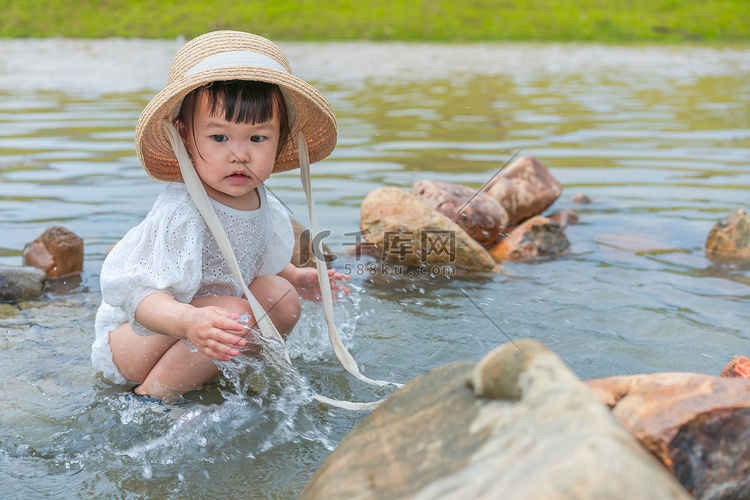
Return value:
[[(283, 357), (280, 343), (259, 337), (260, 349), (217, 363), (221, 404), (188, 409), (170, 421), (165, 433), (125, 451), (145, 462), (221, 461), (255, 458), (274, 447), (309, 441), (332, 450), (335, 443), (315, 420), (312, 391), (307, 381)], [(168, 405), (166, 405), (168, 406)], [(156, 408), (158, 410), (159, 407)], [(153, 419), (156, 413), (140, 413)], [(134, 418), (132, 413), (121, 414)], [(152, 428), (158, 425), (152, 425)]]

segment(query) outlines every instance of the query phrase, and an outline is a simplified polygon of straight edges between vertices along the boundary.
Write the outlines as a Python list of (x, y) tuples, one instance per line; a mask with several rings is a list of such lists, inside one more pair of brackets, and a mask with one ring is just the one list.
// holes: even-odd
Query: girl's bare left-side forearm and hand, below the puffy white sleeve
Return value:
[(144, 298), (135, 310), (135, 319), (157, 333), (187, 339), (203, 354), (218, 361), (229, 361), (239, 354), (245, 339), (230, 332), (242, 332), (234, 321), (239, 315), (221, 307), (195, 307), (175, 300), (165, 292)]

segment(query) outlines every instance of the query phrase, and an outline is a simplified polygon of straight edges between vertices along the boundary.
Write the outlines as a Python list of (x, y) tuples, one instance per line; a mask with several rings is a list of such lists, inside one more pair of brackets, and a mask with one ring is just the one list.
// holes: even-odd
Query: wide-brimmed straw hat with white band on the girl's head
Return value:
[(299, 166), (297, 133), (307, 143), (310, 163), (322, 160), (336, 146), (336, 117), (328, 100), (313, 86), (292, 76), (289, 61), (273, 42), (239, 31), (214, 31), (186, 43), (177, 52), (167, 87), (141, 113), (135, 130), (138, 158), (146, 172), (159, 181), (180, 181), (182, 174), (164, 120), (171, 121), (184, 97), (214, 81), (252, 80), (282, 89), (290, 121), (290, 139), (273, 172)]

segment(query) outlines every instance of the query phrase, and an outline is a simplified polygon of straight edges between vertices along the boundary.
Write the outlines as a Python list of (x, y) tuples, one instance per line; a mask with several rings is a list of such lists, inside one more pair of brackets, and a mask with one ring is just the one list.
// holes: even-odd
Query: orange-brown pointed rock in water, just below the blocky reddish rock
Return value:
[(560, 224), (537, 215), (513, 229), (490, 249), (496, 262), (526, 260), (565, 253), (570, 246)]

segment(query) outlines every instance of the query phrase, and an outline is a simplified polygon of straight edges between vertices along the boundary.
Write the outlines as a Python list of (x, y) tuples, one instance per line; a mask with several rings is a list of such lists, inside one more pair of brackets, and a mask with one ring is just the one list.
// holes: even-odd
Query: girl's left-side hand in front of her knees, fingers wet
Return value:
[(240, 353), (246, 340), (240, 335), (242, 325), (236, 319), (240, 315), (221, 307), (193, 308), (188, 314), (186, 333), (198, 351), (217, 361), (229, 361)]

